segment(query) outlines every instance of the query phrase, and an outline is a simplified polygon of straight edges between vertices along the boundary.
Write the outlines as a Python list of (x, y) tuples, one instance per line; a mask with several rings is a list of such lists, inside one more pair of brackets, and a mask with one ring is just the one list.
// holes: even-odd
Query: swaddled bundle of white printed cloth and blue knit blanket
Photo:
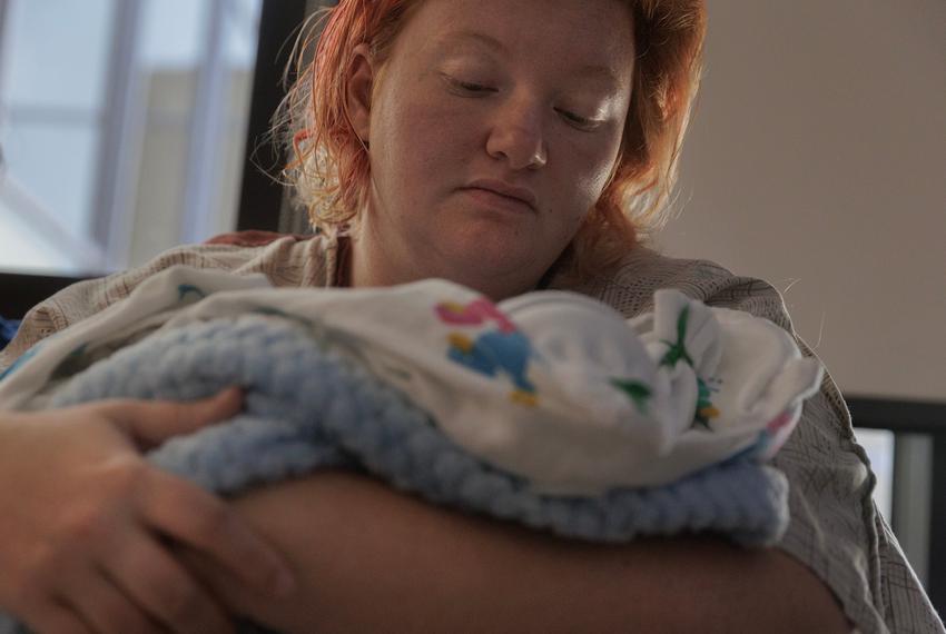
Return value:
[(242, 385), (242, 414), (148, 459), (224, 495), (354, 468), (571, 537), (768, 545), (788, 483), (763, 463), (820, 376), (775, 325), (672, 290), (625, 320), (570, 293), (494, 304), (443, 280), (274, 289), (175, 267), (33, 347), (0, 408)]

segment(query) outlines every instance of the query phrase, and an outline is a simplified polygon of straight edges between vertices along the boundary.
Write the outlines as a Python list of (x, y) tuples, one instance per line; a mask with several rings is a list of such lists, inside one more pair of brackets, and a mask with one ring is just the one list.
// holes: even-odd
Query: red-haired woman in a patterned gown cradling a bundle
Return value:
[[(280, 286), (444, 277), (493, 299), (569, 287), (625, 315), (667, 286), (790, 327), (763, 283), (635, 238), (672, 186), (703, 22), (697, 0), (343, 1), (288, 108), (290, 176), (325, 231), (183, 248), (73, 287), (30, 314), (2, 365), (177, 262)], [(49, 632), (226, 631), (236, 611), (295, 632), (937, 627), (874, 512), (830, 382), (777, 462), (792, 524), (767, 552), (711, 537), (568, 543), (348, 474), (225, 506), (134, 450), (237, 407), (231, 392), (3, 422), (0, 477), (31, 495), (0, 493), (23, 508), (0, 527), (0, 567), (14, 571), (0, 605)], [(276, 582), (275, 555), (244, 523), (293, 563), (294, 583)]]

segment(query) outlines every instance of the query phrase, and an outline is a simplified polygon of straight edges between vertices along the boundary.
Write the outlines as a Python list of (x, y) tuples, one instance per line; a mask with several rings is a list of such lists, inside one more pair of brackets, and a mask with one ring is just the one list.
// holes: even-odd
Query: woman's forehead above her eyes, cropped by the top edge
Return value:
[(403, 34), (425, 50), (482, 49), (623, 75), (633, 63), (628, 0), (424, 0)]

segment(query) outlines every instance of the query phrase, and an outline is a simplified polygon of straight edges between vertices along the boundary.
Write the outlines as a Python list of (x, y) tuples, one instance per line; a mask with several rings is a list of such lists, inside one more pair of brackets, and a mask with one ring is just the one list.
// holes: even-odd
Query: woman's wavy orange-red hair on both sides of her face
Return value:
[[(352, 50), (367, 42), (383, 75), (410, 11), (422, 1), (341, 0), (315, 13), (296, 41), (296, 79), (273, 133), (289, 151), (285, 182), (319, 230), (352, 229), (367, 202), (368, 152), (347, 112)], [(703, 0), (624, 1), (634, 23), (633, 92), (611, 178), (560, 258), (578, 276), (615, 264), (666, 222), (702, 72)]]

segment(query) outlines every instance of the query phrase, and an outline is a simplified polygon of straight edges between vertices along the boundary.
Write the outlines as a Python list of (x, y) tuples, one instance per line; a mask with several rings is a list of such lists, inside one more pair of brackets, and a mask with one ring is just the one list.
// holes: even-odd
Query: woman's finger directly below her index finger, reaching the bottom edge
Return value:
[[(219, 604), (148, 532), (128, 535), (105, 566), (120, 592), (170, 632), (231, 634), (233, 624)], [(119, 592), (118, 588), (115, 591)], [(109, 597), (99, 596), (98, 600)], [(126, 600), (126, 601), (128, 601)], [(137, 630), (128, 630), (138, 632)], [(156, 626), (142, 632), (159, 632)], [(101, 632), (126, 632), (108, 625)]]

